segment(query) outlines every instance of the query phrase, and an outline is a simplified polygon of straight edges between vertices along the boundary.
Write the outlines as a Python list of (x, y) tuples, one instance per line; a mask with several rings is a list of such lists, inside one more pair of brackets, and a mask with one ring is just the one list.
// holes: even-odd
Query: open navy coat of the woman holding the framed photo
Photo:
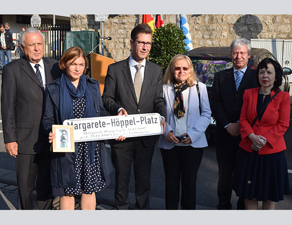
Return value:
[[(108, 116), (103, 108), (99, 82), (86, 78), (87, 85), (92, 95), (96, 116)], [(60, 79), (47, 85), (44, 98), (44, 113), (42, 125), (46, 136), (52, 131), (52, 124), (63, 124), (60, 116)], [(47, 141), (48, 142), (48, 141)], [(111, 161), (107, 154), (104, 143), (99, 143), (101, 157), (101, 172), (106, 179), (106, 186), (110, 184), (110, 173), (112, 171)], [(76, 187), (75, 158), (72, 152), (53, 153), (51, 160), (51, 185), (54, 187)]]

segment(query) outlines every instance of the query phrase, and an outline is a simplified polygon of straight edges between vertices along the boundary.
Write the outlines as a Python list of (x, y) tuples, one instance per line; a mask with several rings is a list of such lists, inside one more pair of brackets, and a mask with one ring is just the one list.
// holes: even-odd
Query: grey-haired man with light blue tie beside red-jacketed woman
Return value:
[[(255, 70), (247, 67), (250, 41), (238, 38), (230, 45), (233, 67), (215, 74), (211, 91), (211, 109), (216, 119), (215, 149), (219, 167), (217, 209), (231, 209), (231, 180), (240, 143), (239, 117), (245, 89), (258, 87)], [(245, 209), (239, 199), (237, 209)]]

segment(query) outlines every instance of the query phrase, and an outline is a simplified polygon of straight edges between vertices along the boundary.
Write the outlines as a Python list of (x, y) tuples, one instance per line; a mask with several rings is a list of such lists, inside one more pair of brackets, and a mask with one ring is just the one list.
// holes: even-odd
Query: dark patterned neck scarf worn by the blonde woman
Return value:
[(184, 96), (182, 95), (182, 91), (186, 90), (190, 86), (187, 82), (184, 82), (181, 85), (178, 85), (176, 82), (173, 83), (174, 91), (176, 93), (176, 97), (174, 99), (174, 111), (173, 114), (177, 116), (177, 119), (185, 116), (185, 106), (184, 106)]

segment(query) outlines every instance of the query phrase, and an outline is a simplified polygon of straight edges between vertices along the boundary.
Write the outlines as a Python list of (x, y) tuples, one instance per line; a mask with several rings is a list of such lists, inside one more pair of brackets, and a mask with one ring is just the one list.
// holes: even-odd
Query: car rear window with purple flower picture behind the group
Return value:
[(192, 59), (192, 63), (197, 78), (207, 87), (212, 87), (215, 73), (232, 67), (232, 62), (225, 60)]

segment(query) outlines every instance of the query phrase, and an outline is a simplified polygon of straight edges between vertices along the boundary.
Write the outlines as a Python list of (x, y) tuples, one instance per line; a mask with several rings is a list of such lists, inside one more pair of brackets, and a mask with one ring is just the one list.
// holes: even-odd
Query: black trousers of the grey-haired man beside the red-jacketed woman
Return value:
[[(216, 158), (219, 169), (219, 179), (217, 186), (218, 205), (217, 209), (231, 209), (230, 203), (232, 188), (232, 176), (238, 153), (238, 144), (215, 144)], [(243, 198), (237, 201), (237, 209), (245, 209)]]

